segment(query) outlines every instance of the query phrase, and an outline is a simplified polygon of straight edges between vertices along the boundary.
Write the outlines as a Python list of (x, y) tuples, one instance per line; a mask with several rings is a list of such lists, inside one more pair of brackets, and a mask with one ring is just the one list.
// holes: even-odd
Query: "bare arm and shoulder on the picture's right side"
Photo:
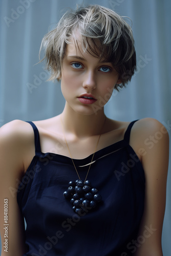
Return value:
[[(143, 236), (144, 242), (137, 248), (136, 256), (162, 256), (169, 138), (165, 127), (155, 119), (140, 120), (137, 131), (138, 125), (143, 127), (139, 146), (144, 148), (142, 165), (145, 173), (145, 201), (138, 236)], [(148, 236), (145, 236), (147, 233)]]

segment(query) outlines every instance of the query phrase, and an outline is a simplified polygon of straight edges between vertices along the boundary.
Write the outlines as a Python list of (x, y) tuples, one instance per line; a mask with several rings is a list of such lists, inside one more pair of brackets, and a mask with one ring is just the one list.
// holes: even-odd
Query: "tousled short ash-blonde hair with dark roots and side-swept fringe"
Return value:
[(125, 87), (136, 71), (136, 53), (131, 27), (116, 12), (99, 6), (89, 5), (65, 13), (56, 28), (44, 36), (40, 51), (45, 50), (46, 68), (51, 72), (49, 80), (61, 79), (61, 66), (66, 54), (66, 46), (76, 34), (84, 52), (111, 62)]

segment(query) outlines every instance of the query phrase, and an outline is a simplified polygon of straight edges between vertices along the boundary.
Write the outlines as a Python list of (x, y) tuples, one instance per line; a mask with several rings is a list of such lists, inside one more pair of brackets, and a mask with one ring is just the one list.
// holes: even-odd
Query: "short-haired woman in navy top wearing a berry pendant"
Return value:
[(136, 70), (130, 26), (92, 5), (65, 14), (41, 47), (66, 104), (0, 130), (8, 255), (162, 256), (168, 133), (152, 118), (104, 114)]

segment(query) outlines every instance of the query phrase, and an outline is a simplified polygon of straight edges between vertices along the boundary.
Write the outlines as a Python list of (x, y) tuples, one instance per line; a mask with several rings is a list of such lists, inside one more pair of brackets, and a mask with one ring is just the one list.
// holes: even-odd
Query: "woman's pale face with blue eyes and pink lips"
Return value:
[[(79, 47), (79, 48), (78, 48)], [(109, 101), (118, 73), (111, 62), (104, 62), (88, 52), (74, 40), (67, 45), (61, 67), (61, 91), (66, 104), (76, 113), (91, 115), (103, 108)]]

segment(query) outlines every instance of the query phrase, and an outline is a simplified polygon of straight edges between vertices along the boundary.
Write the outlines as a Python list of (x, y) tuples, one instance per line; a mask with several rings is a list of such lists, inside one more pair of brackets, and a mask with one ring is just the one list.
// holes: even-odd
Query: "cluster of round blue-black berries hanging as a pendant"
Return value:
[(87, 212), (87, 209), (92, 209), (101, 201), (101, 196), (97, 193), (96, 188), (92, 188), (89, 180), (70, 181), (69, 188), (63, 193), (66, 199), (70, 200), (73, 205), (73, 210), (76, 214)]

